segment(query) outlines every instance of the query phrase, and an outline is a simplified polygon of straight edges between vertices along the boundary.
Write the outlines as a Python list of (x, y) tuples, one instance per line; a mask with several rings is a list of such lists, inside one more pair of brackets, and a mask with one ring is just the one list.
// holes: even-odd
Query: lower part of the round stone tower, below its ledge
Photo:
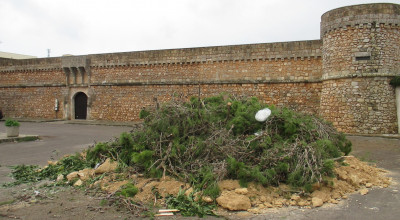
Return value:
[(346, 133), (397, 133), (395, 93), (389, 81), (388, 77), (324, 81), (321, 116)]

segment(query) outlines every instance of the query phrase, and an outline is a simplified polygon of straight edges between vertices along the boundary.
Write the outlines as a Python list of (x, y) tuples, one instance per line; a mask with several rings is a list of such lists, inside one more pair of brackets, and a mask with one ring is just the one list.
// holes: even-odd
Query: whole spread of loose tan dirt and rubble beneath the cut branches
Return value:
[[(384, 176), (385, 170), (368, 165), (353, 156), (345, 157), (343, 162), (336, 162), (334, 172), (337, 178), (327, 179), (322, 184), (314, 184), (312, 193), (294, 191), (285, 184), (279, 187), (263, 187), (261, 184), (249, 183), (244, 188), (240, 186), (238, 180), (223, 180), (218, 183), (221, 194), (215, 202), (219, 205), (220, 211), (225, 209), (259, 214), (269, 208), (286, 206), (312, 208), (322, 206), (324, 203), (337, 204), (340, 200), (346, 199), (350, 193), (359, 191), (365, 195), (369, 188), (383, 188), (390, 184), (390, 178)], [(100, 187), (113, 194), (131, 181), (139, 189), (132, 200), (142, 204), (158, 205), (165, 205), (164, 198), (168, 195), (176, 196), (180, 190), (185, 190), (186, 194), (193, 191), (190, 185), (170, 177), (148, 179), (136, 174), (119, 180), (121, 178), (120, 174), (110, 174), (90, 187)], [(201, 193), (198, 195), (204, 201), (214, 202), (209, 197), (201, 197)]]

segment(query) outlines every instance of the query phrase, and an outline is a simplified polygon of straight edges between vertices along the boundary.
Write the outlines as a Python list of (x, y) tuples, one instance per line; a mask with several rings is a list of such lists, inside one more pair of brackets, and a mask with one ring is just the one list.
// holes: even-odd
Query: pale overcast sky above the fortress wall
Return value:
[(0, 0), (0, 51), (46, 57), (319, 39), (369, 0)]

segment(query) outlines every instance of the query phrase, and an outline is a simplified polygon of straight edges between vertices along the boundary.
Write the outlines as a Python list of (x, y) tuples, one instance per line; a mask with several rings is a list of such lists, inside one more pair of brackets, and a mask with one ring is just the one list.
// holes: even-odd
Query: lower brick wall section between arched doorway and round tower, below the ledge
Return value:
[(199, 94), (256, 96), (266, 104), (308, 114), (319, 113), (321, 83), (254, 83), (206, 85), (93, 86), (91, 117), (97, 120), (135, 121), (143, 107), (155, 107), (175, 96), (187, 100)]

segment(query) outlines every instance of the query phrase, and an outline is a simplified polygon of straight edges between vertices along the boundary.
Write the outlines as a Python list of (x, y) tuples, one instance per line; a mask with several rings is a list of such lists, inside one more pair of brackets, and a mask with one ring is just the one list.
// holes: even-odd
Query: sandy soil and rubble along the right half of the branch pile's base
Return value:
[[(281, 184), (279, 187), (263, 187), (250, 183), (247, 188), (241, 188), (236, 180), (224, 180), (219, 183), (222, 191), (217, 203), (221, 207), (239, 211), (247, 210), (252, 213), (263, 213), (268, 208), (283, 206), (319, 207), (324, 203), (337, 204), (339, 200), (347, 198), (349, 193), (359, 191), (362, 195), (368, 193), (371, 187), (388, 187), (390, 178), (384, 176), (385, 170), (368, 165), (355, 157), (349, 156), (344, 160), (345, 165), (337, 164), (335, 173), (337, 178), (330, 183), (315, 184), (311, 194), (294, 192), (289, 186)], [(247, 197), (250, 204), (239, 204), (237, 199)], [(241, 201), (243, 203), (243, 199)], [(248, 208), (251, 205), (251, 208)]]

